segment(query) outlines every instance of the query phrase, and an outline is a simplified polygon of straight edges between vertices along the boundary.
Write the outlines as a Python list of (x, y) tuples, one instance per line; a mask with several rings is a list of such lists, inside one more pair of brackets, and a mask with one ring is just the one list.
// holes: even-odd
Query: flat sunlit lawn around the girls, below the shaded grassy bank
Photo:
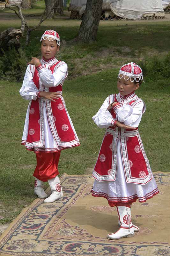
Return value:
[[(71, 119), (78, 133), (81, 146), (63, 150), (59, 162), (60, 173), (81, 175), (86, 168), (95, 164), (104, 134), (92, 122), (108, 94), (115, 93), (117, 70), (81, 76), (67, 80), (63, 86), (63, 96)], [(152, 171), (169, 171), (169, 116), (170, 79), (147, 81), (137, 94), (147, 110), (140, 124), (141, 137)], [(18, 212), (30, 204), (33, 195), (33, 176), (36, 160), (33, 152), (20, 145), (28, 102), (19, 95), (21, 84), (1, 81), (0, 116), (1, 125), (1, 201), (5, 218), (0, 223), (11, 221)], [(162, 118), (163, 122), (159, 120)], [(46, 184), (47, 186), (47, 184)], [(1, 212), (0, 212), (1, 213)], [(3, 213), (2, 213), (3, 214)]]

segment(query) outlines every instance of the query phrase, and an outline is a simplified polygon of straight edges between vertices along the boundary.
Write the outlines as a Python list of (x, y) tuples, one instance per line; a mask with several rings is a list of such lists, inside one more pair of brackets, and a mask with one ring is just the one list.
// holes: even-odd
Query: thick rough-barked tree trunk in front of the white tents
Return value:
[(85, 13), (81, 22), (78, 41), (89, 43), (96, 40), (103, 0), (87, 0)]

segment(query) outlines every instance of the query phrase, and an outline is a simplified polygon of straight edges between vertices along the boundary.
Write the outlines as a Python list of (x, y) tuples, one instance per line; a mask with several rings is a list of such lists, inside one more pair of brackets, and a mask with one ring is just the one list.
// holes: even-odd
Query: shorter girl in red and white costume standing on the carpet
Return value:
[(134, 236), (139, 231), (131, 222), (132, 203), (137, 199), (143, 203), (159, 193), (138, 131), (146, 109), (135, 94), (142, 81), (138, 65), (123, 65), (117, 80), (119, 93), (109, 95), (92, 117), (99, 128), (106, 128), (92, 173), (92, 196), (104, 197), (111, 207), (117, 208), (120, 229), (107, 235), (113, 240)]

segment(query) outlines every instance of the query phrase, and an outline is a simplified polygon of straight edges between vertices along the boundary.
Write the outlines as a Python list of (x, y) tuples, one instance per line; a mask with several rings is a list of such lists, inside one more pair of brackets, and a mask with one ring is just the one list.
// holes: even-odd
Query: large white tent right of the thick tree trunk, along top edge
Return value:
[(115, 0), (111, 11), (122, 18), (140, 20), (142, 16), (164, 16), (162, 0)]

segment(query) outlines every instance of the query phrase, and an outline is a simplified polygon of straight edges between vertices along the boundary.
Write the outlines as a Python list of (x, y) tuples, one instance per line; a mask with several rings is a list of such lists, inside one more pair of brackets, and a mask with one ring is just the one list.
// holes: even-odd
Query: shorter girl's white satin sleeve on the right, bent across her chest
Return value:
[(128, 126), (138, 127), (142, 118), (143, 108), (144, 102), (140, 101), (133, 107), (130, 104), (125, 105), (125, 107), (115, 104), (113, 109), (119, 122)]

